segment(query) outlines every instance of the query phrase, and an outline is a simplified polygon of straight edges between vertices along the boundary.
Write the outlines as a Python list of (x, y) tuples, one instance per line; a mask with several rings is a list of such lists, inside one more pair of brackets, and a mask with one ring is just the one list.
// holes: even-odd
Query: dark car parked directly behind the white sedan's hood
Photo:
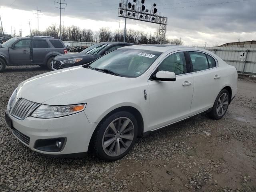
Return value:
[(94, 44), (80, 53), (58, 55), (52, 61), (52, 70), (87, 64), (110, 51), (130, 45), (134, 44), (124, 42), (102, 42)]

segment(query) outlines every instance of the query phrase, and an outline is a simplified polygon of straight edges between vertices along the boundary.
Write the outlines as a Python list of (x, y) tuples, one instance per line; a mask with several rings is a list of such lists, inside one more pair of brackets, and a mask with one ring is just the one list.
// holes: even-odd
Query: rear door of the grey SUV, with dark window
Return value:
[(45, 39), (33, 39), (33, 63), (43, 64), (47, 55), (52, 54), (52, 48)]

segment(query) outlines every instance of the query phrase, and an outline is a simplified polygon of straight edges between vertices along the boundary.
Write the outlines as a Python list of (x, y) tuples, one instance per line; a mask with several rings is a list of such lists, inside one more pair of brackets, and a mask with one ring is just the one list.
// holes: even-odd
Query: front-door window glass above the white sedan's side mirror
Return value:
[(176, 75), (187, 73), (186, 59), (184, 52), (168, 56), (159, 66), (158, 71), (170, 71)]

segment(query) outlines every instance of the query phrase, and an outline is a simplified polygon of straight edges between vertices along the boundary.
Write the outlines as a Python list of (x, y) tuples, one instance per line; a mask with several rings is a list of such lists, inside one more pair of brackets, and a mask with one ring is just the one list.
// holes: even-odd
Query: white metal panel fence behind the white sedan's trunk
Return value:
[[(202, 47), (204, 48), (204, 47)], [(256, 74), (256, 48), (206, 47), (242, 74)]]

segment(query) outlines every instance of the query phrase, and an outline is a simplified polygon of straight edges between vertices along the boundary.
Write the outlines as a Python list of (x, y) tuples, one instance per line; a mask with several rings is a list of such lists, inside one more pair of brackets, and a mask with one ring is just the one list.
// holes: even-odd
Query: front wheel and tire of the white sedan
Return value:
[(105, 118), (94, 133), (94, 153), (102, 160), (115, 161), (130, 151), (138, 134), (136, 118), (126, 111)]

